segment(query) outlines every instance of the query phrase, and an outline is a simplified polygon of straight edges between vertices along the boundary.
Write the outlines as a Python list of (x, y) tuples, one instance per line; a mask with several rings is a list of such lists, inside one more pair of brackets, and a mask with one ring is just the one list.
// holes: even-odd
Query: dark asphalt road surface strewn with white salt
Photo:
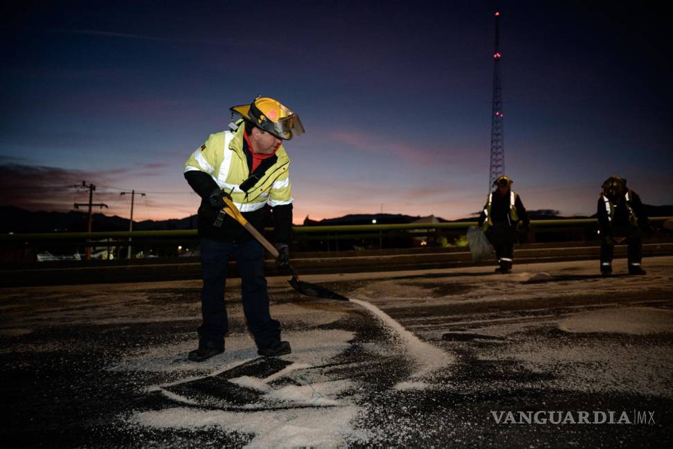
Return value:
[(269, 279), (293, 352), (186, 360), (199, 281), (0, 290), (4, 447), (673, 447), (673, 257)]

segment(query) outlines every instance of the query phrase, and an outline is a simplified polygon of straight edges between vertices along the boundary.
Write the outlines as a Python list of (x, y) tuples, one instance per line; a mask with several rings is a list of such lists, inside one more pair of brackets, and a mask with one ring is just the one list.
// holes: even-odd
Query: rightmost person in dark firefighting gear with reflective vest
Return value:
[(643, 231), (649, 220), (640, 197), (626, 186), (626, 179), (613, 175), (602, 185), (598, 198), (598, 230), (600, 233), (600, 273), (612, 274), (615, 242), (627, 241), (629, 274), (646, 274), (643, 258)]

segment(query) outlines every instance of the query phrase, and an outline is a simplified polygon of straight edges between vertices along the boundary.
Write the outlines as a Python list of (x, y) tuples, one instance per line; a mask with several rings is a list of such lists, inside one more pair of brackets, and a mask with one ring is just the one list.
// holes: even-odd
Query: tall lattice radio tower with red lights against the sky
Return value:
[(496, 11), (496, 40), (493, 52), (493, 109), (491, 114), (491, 170), (488, 190), (493, 182), (505, 173), (505, 141), (503, 137), (503, 96), (500, 80), (500, 30), (498, 28), (500, 12)]

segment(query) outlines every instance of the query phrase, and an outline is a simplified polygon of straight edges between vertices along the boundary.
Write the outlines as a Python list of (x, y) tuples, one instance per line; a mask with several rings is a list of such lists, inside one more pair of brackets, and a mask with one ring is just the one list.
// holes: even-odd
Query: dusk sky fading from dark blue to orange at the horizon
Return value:
[[(306, 128), (286, 143), (295, 222), (483, 205), (495, 2), (155, 3), (2, 7), (0, 204), (69, 211), (84, 180), (109, 215), (129, 215), (132, 189), (135, 220), (191, 215), (184, 161), (262, 94)], [(505, 167), (526, 208), (594, 213), (615, 173), (673, 204), (664, 10), (497, 4)]]

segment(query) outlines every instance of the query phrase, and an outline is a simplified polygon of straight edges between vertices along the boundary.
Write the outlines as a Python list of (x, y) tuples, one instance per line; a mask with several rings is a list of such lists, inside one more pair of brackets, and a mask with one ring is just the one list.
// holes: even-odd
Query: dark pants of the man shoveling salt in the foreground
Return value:
[(258, 348), (280, 341), (280, 323), (269, 314), (267, 279), (264, 277), (264, 249), (256, 240), (226, 243), (201, 238), (201, 290), (199, 341), (224, 342), (228, 319), (224, 306), (224, 287), (229, 258), (234, 256), (242, 282), (243, 312)]

